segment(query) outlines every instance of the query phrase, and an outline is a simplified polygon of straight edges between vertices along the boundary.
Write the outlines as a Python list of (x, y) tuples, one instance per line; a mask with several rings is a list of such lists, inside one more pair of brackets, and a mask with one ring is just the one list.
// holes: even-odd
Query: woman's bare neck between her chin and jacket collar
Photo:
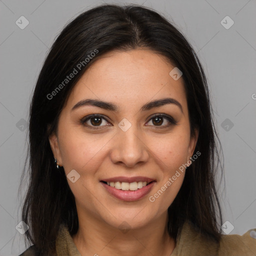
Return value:
[(169, 256), (175, 247), (175, 241), (166, 229), (167, 211), (146, 226), (126, 231), (99, 219), (86, 217), (79, 220), (78, 231), (72, 239), (82, 256)]

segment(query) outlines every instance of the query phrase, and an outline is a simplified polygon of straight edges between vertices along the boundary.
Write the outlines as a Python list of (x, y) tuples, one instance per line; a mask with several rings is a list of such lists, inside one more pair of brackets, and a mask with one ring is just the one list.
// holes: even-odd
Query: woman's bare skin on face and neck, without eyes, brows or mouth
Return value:
[[(197, 130), (190, 136), (183, 80), (169, 75), (173, 67), (148, 49), (108, 52), (85, 71), (60, 113), (57, 132), (49, 141), (65, 174), (72, 169), (80, 174), (76, 182), (67, 181), (79, 220), (72, 239), (81, 255), (170, 255), (175, 247), (166, 230), (167, 208), (185, 171), (154, 202), (148, 199), (189, 160), (198, 137)], [(140, 111), (143, 104), (165, 97), (176, 99), (182, 111), (175, 104)], [(87, 98), (112, 102), (119, 109), (85, 105), (71, 110)], [(172, 116), (177, 123), (161, 128), (169, 121), (161, 118), (157, 125), (151, 119), (155, 113)], [(81, 124), (80, 119), (90, 114), (102, 114), (105, 119), (101, 118), (100, 126), (91, 124), (91, 119), (86, 121), (88, 126)], [(131, 123), (125, 132), (118, 127), (123, 118)], [(93, 124), (99, 128), (89, 128)], [(123, 201), (99, 182), (114, 176), (147, 176), (156, 183), (143, 198)], [(129, 228), (126, 233), (118, 228), (123, 221)]]

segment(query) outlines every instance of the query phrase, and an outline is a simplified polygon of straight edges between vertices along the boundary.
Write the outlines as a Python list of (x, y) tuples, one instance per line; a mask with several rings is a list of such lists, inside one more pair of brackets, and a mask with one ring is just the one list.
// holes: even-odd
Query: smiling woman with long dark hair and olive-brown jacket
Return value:
[(255, 255), (256, 229), (220, 232), (216, 139), (203, 69), (172, 24), (137, 5), (80, 14), (34, 89), (21, 255)]

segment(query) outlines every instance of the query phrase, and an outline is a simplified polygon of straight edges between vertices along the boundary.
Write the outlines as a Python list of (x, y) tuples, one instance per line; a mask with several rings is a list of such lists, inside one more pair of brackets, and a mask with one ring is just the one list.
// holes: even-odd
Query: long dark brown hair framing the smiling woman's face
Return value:
[[(182, 70), (191, 135), (199, 129), (195, 152), (201, 155), (187, 168), (182, 186), (168, 207), (168, 232), (176, 237), (179, 227), (190, 221), (202, 234), (216, 242), (220, 239), (218, 221), (222, 222), (222, 216), (215, 186), (219, 139), (198, 57), (181, 32), (154, 10), (133, 4), (103, 4), (79, 14), (63, 28), (44, 60), (31, 100), (29, 167), (26, 161), (22, 172), (22, 177), (25, 173), (29, 176), (29, 184), (22, 220), (29, 226), (26, 240), (45, 255), (55, 252), (61, 223), (71, 235), (78, 229), (74, 196), (63, 167), (56, 170), (48, 136), (56, 131), (61, 109), (88, 66), (110, 50), (139, 47), (165, 56)], [(63, 83), (74, 68), (77, 74)]]

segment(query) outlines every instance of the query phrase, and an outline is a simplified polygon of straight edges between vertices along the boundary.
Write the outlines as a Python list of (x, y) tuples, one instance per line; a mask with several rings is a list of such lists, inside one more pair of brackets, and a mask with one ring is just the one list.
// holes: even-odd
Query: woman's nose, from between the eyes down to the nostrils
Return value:
[(132, 128), (119, 129), (114, 138), (114, 145), (110, 153), (111, 161), (126, 167), (143, 164), (149, 159), (149, 150), (139, 132)]

